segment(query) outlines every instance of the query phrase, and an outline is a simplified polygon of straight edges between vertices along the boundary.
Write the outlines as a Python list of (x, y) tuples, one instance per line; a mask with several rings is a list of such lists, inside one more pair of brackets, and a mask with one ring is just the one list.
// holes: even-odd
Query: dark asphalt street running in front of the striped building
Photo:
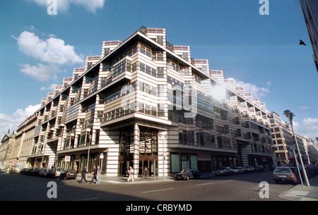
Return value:
[[(78, 177), (79, 178), (79, 177)], [(0, 174), (0, 201), (280, 201), (277, 195), (293, 185), (278, 184), (272, 171), (233, 176), (202, 176), (199, 180), (151, 180), (144, 183), (102, 181), (100, 185)], [(103, 178), (107, 178), (103, 176)], [(55, 196), (49, 195), (54, 181)], [(261, 182), (269, 184), (268, 197), (261, 198)]]

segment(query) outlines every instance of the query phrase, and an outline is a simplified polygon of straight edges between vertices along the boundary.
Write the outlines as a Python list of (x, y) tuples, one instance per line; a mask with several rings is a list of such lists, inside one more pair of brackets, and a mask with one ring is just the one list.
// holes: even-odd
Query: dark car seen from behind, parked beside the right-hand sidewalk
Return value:
[(273, 171), (273, 180), (276, 184), (280, 182), (298, 184), (300, 178), (297, 168), (278, 166)]

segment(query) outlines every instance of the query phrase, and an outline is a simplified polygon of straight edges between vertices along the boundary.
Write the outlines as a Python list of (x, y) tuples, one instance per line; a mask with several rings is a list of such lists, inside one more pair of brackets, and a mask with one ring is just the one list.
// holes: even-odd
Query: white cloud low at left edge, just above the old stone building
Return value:
[(10, 133), (13, 130), (18, 129), (18, 125), (23, 123), (26, 118), (31, 116), (35, 111), (40, 109), (41, 104), (29, 105), (24, 110), (17, 109), (12, 115), (7, 115), (6, 113), (0, 113), (0, 137), (4, 137), (4, 134), (10, 129)]

